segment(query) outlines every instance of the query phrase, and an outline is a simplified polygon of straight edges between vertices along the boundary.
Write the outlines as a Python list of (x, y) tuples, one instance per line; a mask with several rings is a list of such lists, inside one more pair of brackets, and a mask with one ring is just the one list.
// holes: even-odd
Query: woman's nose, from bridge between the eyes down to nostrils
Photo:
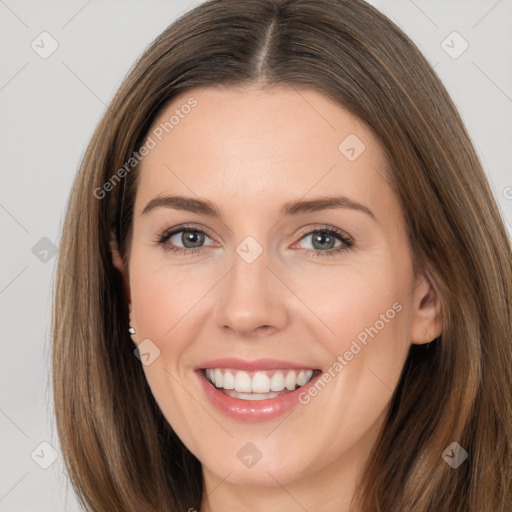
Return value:
[(272, 256), (263, 244), (247, 236), (236, 246), (217, 307), (219, 326), (240, 335), (264, 326), (282, 329), (287, 320), (284, 290), (269, 269)]

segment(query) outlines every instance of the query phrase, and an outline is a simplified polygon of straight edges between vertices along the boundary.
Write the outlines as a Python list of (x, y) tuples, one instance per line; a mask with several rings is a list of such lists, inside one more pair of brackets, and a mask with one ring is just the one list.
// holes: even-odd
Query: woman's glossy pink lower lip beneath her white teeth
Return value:
[(267, 398), (266, 400), (241, 400), (240, 398), (225, 395), (222, 391), (214, 387), (213, 384), (206, 379), (204, 371), (198, 370), (196, 373), (206, 396), (218, 411), (235, 420), (248, 423), (270, 421), (291, 411), (300, 404), (299, 394), (303, 392), (307, 393), (308, 388), (314, 386), (314, 383), (321, 375), (319, 372), (304, 386), (290, 391), (289, 393), (276, 396), (275, 398)]

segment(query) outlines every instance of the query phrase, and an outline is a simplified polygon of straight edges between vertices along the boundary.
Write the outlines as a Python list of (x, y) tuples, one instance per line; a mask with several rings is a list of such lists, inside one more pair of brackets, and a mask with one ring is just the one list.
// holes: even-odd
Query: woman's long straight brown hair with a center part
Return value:
[[(371, 128), (415, 265), (428, 269), (442, 304), (443, 333), (411, 347), (354, 504), (510, 512), (510, 243), (445, 88), (411, 40), (362, 0), (203, 3), (151, 44), (108, 107), (69, 199), (53, 314), (57, 428), (82, 504), (200, 508), (200, 463), (164, 419), (128, 335), (110, 242), (127, 265), (137, 166), (118, 171), (178, 94), (253, 83), (313, 88)], [(468, 452), (457, 469), (441, 457), (453, 441)]]

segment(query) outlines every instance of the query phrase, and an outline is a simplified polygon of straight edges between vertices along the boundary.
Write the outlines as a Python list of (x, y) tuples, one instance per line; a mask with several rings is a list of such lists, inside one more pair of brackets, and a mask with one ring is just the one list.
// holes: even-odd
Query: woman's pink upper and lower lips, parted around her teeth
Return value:
[[(266, 360), (267, 362), (271, 360)], [(229, 364), (225, 364), (226, 362), (230, 362)], [(234, 360), (222, 359), (214, 361), (215, 365), (219, 364), (219, 366), (213, 366), (213, 368), (219, 367), (230, 367), (233, 369), (240, 369), (246, 371), (253, 371), (254, 364), (245, 365), (243, 367), (233, 365)], [(238, 360), (240, 363), (240, 360)], [(212, 362), (208, 363), (211, 364)], [(258, 363), (260, 364), (261, 361)], [(272, 360), (271, 363), (274, 365), (276, 362)], [(279, 362), (280, 366), (267, 366), (263, 368), (262, 366), (257, 366), (258, 369), (278, 369), (278, 368), (293, 368), (293, 369), (310, 369), (311, 367), (304, 367), (302, 365), (283, 366), (283, 362)], [(212, 366), (206, 366), (206, 368), (212, 368)], [(248, 369), (250, 368), (250, 369)], [(207, 380), (204, 369), (199, 367), (194, 372), (203, 388), (203, 391), (211, 402), (211, 404), (222, 414), (235, 419), (237, 421), (245, 422), (245, 423), (259, 423), (264, 421), (270, 421), (278, 418), (288, 412), (290, 412), (294, 407), (300, 405), (299, 402), (299, 394), (306, 392), (309, 387), (314, 386), (317, 379), (322, 375), (321, 371), (315, 370), (315, 374), (312, 379), (304, 386), (295, 389), (294, 391), (290, 391), (289, 393), (285, 393), (283, 395), (276, 396), (275, 398), (267, 398), (266, 400), (241, 400), (239, 398), (232, 398), (228, 395), (225, 395), (222, 391), (218, 390), (209, 380)]]

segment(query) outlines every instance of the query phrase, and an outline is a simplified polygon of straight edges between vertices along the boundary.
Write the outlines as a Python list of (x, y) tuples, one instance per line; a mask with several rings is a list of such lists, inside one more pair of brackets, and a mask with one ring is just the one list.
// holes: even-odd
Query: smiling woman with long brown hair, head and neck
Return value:
[(359, 0), (206, 2), (71, 193), (71, 481), (95, 511), (508, 511), (511, 304), (484, 172), (403, 32)]

